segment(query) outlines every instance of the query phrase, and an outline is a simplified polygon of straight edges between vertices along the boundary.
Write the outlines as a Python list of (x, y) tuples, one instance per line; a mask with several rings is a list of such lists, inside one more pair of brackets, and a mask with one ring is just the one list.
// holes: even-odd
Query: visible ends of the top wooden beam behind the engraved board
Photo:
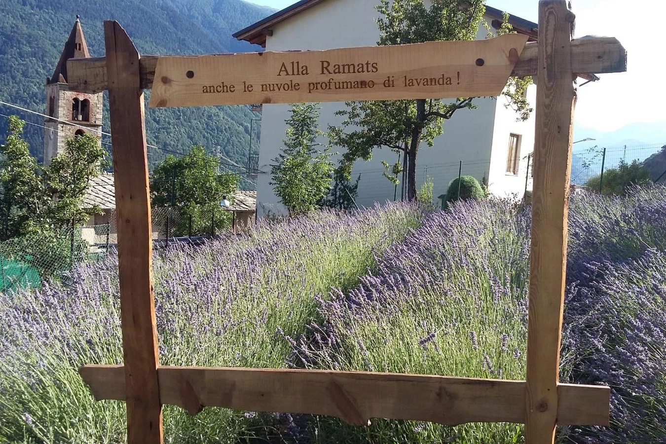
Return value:
[[(295, 51), (297, 52), (297, 51)], [(525, 77), (537, 72), (537, 43), (529, 42), (520, 54), (511, 75)], [(153, 88), (155, 68), (160, 57), (141, 56), (141, 87)], [(627, 71), (627, 51), (614, 37), (583, 37), (571, 42), (571, 65), (580, 75)], [(105, 91), (107, 65), (105, 57), (67, 61), (69, 89), (89, 93)]]

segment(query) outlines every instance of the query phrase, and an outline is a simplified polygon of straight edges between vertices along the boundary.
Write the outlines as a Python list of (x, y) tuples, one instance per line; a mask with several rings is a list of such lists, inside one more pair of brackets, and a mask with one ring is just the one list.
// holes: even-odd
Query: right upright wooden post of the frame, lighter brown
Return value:
[(573, 108), (571, 29), (565, 0), (539, 1), (534, 192), (527, 321), (525, 442), (552, 444), (567, 255)]

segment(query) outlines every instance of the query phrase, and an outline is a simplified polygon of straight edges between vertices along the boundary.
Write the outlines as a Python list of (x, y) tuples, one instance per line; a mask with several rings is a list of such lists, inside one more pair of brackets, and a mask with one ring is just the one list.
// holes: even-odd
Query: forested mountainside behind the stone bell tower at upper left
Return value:
[[(44, 112), (45, 79), (63, 50), (77, 14), (93, 57), (104, 55), (103, 21), (117, 20), (141, 54), (194, 55), (257, 51), (260, 48), (236, 41), (231, 35), (274, 10), (242, 0), (3, 0), (0, 15), (0, 101)], [(19, 114), (29, 122), (43, 124), (39, 116), (0, 106), (1, 114)], [(186, 152), (192, 144), (209, 150), (220, 146), (224, 155), (246, 164), (250, 144), (249, 107), (147, 109), (149, 144)], [(109, 130), (105, 101), (105, 130)], [(255, 125), (256, 126), (256, 125)], [(0, 116), (0, 142), (7, 119)], [(252, 131), (258, 149), (258, 134)], [(26, 127), (31, 151), (41, 159), (43, 128)], [(149, 148), (151, 164), (167, 154)]]

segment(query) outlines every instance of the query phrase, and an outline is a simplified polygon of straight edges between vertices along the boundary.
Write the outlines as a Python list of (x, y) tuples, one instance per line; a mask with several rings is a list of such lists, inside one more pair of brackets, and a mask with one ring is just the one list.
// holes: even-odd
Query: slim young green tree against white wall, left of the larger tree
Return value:
[(317, 208), (331, 188), (333, 163), (330, 146), (318, 150), (316, 142), (324, 133), (317, 127), (318, 103), (292, 105), (291, 118), (286, 120), (286, 139), (280, 154), (271, 166), (275, 194), (286, 206), (289, 215), (299, 216)]

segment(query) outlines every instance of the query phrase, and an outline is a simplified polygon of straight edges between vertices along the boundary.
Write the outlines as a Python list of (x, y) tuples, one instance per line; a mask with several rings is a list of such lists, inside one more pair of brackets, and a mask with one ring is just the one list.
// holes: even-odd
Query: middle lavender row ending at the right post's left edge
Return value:
[[(523, 379), (529, 218), (508, 202), (458, 202), (378, 258), (376, 272), (320, 300), (324, 324), (294, 345), (296, 365)], [(321, 420), (320, 442), (511, 443), (513, 424), (452, 428)]]

